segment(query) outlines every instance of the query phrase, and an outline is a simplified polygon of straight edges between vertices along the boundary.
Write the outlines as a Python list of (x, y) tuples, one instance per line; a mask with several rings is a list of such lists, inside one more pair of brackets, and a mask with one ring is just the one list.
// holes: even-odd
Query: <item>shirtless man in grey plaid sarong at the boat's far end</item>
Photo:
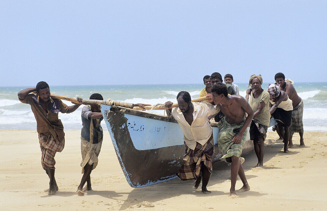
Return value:
[(294, 133), (300, 135), (300, 147), (305, 146), (303, 141), (303, 101), (296, 92), (293, 84), (285, 82), (285, 75), (283, 73), (276, 73), (275, 81), (279, 84), (281, 90), (286, 92), (289, 99), (293, 102), (292, 123), (290, 126), (290, 139), (288, 147), (294, 147), (292, 137)]

